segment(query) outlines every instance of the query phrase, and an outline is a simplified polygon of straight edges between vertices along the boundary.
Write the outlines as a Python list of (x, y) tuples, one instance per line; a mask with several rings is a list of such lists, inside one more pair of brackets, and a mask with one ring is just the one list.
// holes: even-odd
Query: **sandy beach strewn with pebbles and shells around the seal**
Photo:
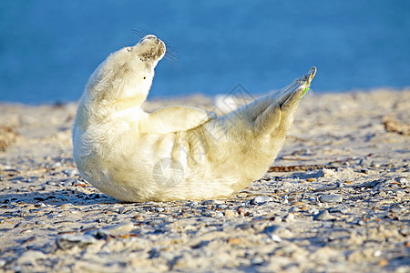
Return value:
[[(215, 109), (146, 108), (177, 103)], [(409, 109), (408, 89), (308, 92), (261, 180), (127, 204), (78, 175), (77, 104), (0, 104), (0, 271), (410, 272)]]

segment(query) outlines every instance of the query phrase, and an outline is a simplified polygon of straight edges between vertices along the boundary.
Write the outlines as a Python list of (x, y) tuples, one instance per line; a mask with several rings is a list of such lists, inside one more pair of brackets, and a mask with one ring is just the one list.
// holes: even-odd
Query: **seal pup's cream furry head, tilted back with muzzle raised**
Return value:
[(111, 54), (89, 78), (89, 101), (119, 107), (141, 105), (149, 94), (154, 68), (165, 52), (164, 42), (146, 35), (137, 45)]

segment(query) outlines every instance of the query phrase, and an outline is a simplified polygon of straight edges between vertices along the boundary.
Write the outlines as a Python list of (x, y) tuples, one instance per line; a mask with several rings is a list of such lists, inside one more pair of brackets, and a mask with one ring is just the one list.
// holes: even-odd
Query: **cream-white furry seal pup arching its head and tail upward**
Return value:
[(166, 53), (155, 35), (108, 56), (90, 76), (73, 128), (77, 169), (121, 201), (229, 197), (277, 156), (316, 68), (224, 116), (190, 106), (141, 105)]

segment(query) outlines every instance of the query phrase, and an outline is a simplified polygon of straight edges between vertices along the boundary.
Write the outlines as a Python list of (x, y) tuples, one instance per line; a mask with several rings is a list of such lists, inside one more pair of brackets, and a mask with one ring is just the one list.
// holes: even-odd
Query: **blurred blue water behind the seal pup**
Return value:
[(77, 100), (109, 53), (158, 35), (179, 62), (150, 97), (261, 94), (318, 67), (315, 91), (410, 86), (410, 1), (2, 1), (0, 101)]

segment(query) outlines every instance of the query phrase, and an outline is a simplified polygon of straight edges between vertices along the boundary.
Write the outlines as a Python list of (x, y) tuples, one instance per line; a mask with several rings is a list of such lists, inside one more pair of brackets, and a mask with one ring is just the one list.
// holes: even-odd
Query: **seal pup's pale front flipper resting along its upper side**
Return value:
[(145, 133), (167, 134), (188, 131), (200, 126), (216, 114), (190, 106), (168, 106), (158, 109), (141, 121), (140, 128)]

